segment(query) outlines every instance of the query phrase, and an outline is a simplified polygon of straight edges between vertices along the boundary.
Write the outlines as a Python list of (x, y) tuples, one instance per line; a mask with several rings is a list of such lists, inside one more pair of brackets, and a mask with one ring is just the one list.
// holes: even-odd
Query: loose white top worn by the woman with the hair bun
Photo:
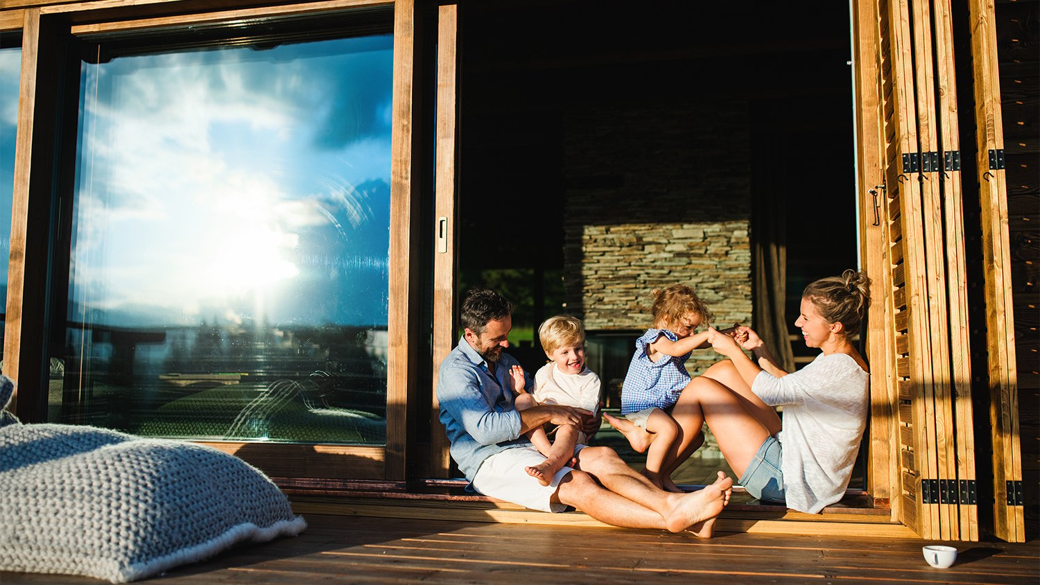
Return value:
[(783, 406), (781, 471), (787, 507), (816, 513), (841, 499), (866, 428), (869, 375), (844, 353), (820, 354), (801, 370), (755, 376), (751, 390)]

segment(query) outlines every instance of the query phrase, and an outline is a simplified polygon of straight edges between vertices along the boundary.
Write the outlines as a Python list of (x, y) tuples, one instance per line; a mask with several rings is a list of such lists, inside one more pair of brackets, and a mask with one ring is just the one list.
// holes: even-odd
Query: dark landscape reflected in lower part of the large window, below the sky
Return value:
[[(63, 398), (63, 422), (208, 441), (385, 442), (386, 329), (243, 336), (207, 324), (118, 331), (78, 325), (70, 329), (73, 357), (57, 382), (64, 392), (52, 392), (52, 404)], [(132, 351), (115, 343), (138, 338), (157, 343)]]

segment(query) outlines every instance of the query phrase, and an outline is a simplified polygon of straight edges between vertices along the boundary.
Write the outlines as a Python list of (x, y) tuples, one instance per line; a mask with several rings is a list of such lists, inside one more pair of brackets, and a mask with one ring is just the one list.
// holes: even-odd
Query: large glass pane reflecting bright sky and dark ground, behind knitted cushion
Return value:
[(384, 444), (392, 36), (96, 54), (51, 418)]

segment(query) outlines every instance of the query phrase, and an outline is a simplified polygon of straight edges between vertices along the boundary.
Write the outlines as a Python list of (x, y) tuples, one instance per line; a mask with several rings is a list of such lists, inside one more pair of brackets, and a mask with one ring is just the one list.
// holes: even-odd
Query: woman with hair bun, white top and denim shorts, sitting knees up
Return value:
[(795, 326), (822, 353), (794, 373), (777, 367), (752, 329), (709, 329), (729, 360), (695, 378), (672, 408), (682, 427), (673, 454), (685, 460), (707, 423), (739, 483), (763, 503), (815, 513), (840, 500), (866, 426), (867, 364), (849, 338), (869, 298), (869, 278), (855, 270), (806, 287)]

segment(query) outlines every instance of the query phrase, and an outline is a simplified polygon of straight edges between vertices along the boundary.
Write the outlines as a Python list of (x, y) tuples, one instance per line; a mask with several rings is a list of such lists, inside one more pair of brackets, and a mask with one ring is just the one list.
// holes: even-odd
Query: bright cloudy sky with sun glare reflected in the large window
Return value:
[(391, 61), (388, 34), (84, 64), (70, 318), (385, 327)]

